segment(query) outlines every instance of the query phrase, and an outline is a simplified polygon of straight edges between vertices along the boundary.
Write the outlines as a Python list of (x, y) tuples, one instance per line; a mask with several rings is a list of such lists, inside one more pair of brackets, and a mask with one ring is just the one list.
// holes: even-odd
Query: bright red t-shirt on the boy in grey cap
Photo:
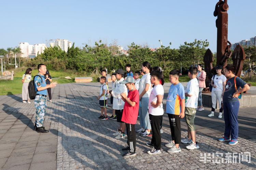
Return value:
[(123, 116), (121, 121), (130, 124), (136, 124), (139, 112), (139, 100), (140, 95), (138, 90), (129, 91), (127, 98), (130, 101), (136, 102), (136, 104), (132, 107), (128, 102), (125, 102)]

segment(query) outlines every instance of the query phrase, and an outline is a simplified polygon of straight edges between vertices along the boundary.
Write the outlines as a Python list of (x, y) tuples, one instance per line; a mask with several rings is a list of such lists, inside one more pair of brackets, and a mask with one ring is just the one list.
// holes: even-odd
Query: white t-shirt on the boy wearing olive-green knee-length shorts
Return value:
[(192, 95), (191, 97), (185, 97), (185, 107), (197, 108), (199, 94), (199, 84), (197, 78), (194, 78), (187, 83), (185, 93)]

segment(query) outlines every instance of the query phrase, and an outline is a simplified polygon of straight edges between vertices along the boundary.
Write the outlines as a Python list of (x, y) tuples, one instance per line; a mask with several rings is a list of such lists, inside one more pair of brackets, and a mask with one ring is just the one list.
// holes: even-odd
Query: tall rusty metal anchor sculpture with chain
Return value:
[[(238, 77), (241, 75), (243, 69), (243, 61), (245, 60), (244, 50), (241, 45), (238, 45), (233, 54), (230, 50), (231, 43), (228, 41), (228, 4), (227, 0), (219, 0), (215, 6), (213, 15), (216, 17), (217, 27), (217, 65), (222, 65), (223, 70), (227, 66), (227, 60), (232, 55), (233, 65), (236, 67), (236, 73)], [(228, 45), (227, 45), (228, 44)], [(204, 54), (204, 68), (207, 75), (206, 84), (208, 85), (212, 79), (212, 76), (216, 74), (215, 67), (212, 66), (213, 54), (210, 49)]]

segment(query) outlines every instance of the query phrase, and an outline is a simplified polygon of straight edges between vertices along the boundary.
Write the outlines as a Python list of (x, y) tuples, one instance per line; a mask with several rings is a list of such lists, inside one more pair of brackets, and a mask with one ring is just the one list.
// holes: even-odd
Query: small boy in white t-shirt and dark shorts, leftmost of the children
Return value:
[[(106, 107), (108, 107), (107, 103), (106, 103), (106, 92), (107, 92), (107, 86), (106, 86), (106, 77), (102, 76), (100, 77), (100, 94), (97, 97), (97, 99), (99, 100), (99, 104), (101, 107), (101, 115), (100, 117), (98, 117), (98, 119), (100, 120), (108, 120), (108, 117), (106, 115)], [(105, 115), (103, 116), (103, 110)]]

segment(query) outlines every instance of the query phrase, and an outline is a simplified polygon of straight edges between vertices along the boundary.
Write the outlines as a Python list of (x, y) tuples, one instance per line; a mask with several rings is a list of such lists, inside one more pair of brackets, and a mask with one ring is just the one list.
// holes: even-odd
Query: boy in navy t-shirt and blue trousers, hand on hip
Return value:
[[(224, 137), (219, 141), (229, 141), (229, 145), (238, 143), (238, 109), (239, 109), (239, 94), (250, 89), (242, 79), (235, 76), (236, 68), (233, 65), (228, 65), (225, 68), (225, 76), (227, 77), (225, 91), (223, 94), (223, 111), (225, 120)], [(242, 89), (240, 89), (242, 87)], [(231, 134), (231, 139), (230, 139)]]

